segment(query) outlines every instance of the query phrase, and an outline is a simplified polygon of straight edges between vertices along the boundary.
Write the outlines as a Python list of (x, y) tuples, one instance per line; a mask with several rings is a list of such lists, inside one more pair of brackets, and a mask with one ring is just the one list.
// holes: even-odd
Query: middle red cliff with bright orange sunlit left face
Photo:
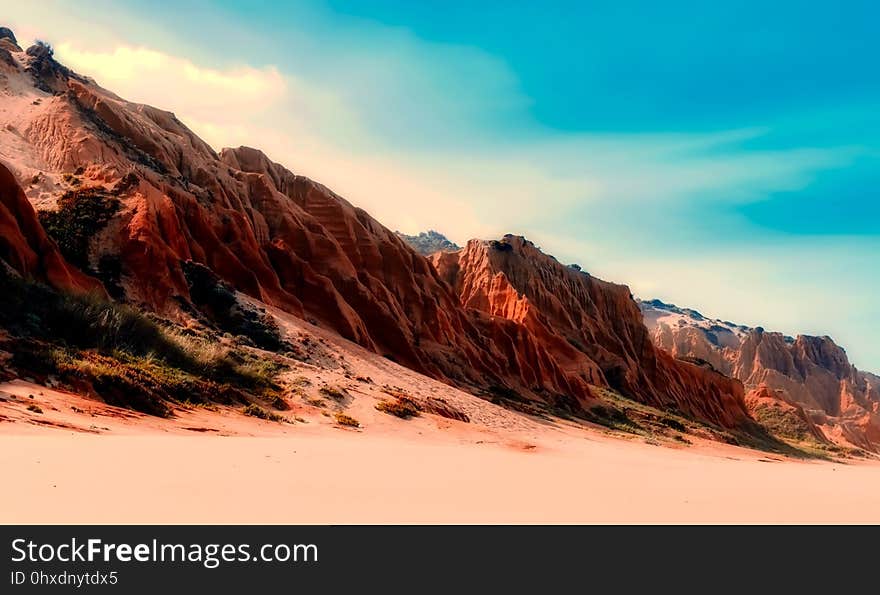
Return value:
[(432, 256), (462, 305), (525, 326), (585, 381), (724, 427), (747, 423), (742, 385), (651, 342), (629, 288), (566, 267), (518, 236)]

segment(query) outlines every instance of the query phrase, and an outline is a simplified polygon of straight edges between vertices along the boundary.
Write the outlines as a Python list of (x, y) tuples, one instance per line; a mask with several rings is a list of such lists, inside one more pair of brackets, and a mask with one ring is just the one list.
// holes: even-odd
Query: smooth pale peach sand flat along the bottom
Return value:
[(415, 426), (400, 436), (49, 432), (0, 436), (0, 522), (880, 521), (876, 463), (781, 461), (723, 445), (676, 450), (557, 430), (524, 444), (419, 436)]

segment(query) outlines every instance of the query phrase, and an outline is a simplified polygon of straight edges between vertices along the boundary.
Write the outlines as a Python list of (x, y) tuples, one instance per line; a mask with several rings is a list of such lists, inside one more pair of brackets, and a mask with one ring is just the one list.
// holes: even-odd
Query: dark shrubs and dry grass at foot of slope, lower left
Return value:
[(19, 376), (55, 381), (107, 403), (167, 416), (169, 403), (269, 403), (277, 366), (134, 308), (0, 273), (0, 328)]

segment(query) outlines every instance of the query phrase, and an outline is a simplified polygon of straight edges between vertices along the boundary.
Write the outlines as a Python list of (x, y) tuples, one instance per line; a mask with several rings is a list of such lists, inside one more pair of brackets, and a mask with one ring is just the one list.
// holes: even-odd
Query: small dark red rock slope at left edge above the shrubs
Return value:
[(103, 293), (101, 283), (68, 264), (49, 239), (15, 177), (0, 164), (0, 265), (26, 279), (74, 292)]

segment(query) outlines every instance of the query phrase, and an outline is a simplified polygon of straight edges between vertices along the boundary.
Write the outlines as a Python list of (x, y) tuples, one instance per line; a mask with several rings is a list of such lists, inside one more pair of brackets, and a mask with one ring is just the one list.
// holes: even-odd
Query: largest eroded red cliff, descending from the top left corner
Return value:
[(64, 232), (83, 246), (71, 256), (120, 299), (185, 318), (195, 310), (185, 273), (193, 261), (474, 392), (571, 410), (591, 402), (588, 381), (528, 328), (462, 308), (427, 260), (321, 184), (255, 149), (217, 154), (173, 114), (117, 97), (45, 48), (4, 51), (0, 156), (37, 209), (59, 212), (66, 196), (71, 212), (88, 202), (108, 214), (86, 237), (76, 226)]

